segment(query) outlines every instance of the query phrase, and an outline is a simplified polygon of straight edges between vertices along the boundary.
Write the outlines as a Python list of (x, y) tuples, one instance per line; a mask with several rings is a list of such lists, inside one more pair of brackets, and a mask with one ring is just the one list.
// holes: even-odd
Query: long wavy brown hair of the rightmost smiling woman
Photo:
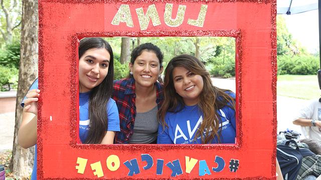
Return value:
[[(235, 111), (235, 99), (226, 93), (226, 91), (230, 90), (221, 89), (212, 84), (210, 73), (206, 70), (204, 64), (192, 55), (183, 54), (172, 58), (165, 69), (165, 100), (158, 111), (159, 120), (163, 129), (168, 127), (165, 122), (166, 112), (179, 112), (185, 105), (183, 98), (176, 92), (174, 86), (173, 70), (178, 66), (185, 67), (194, 74), (201, 75), (204, 82), (203, 90), (200, 93), (198, 102), (198, 106), (200, 107), (201, 112), (203, 112), (204, 118), (195, 134), (194, 140), (196, 141), (196, 137), (201, 136), (202, 143), (211, 143), (217, 136), (218, 142), (220, 142), (220, 134), (218, 134), (217, 131), (221, 119), (217, 110), (227, 105)], [(205, 134), (202, 132), (205, 132)]]

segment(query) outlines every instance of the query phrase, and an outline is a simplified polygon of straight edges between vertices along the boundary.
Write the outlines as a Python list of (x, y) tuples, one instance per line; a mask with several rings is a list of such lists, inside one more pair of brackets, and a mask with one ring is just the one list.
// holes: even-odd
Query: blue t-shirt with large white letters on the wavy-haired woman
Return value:
[[(235, 97), (234, 94), (230, 94)], [(224, 106), (218, 109), (221, 120), (219, 124), (218, 134), (220, 135), (220, 143), (235, 143), (236, 137), (236, 122), (235, 111), (229, 106)], [(157, 144), (200, 144), (202, 143), (201, 136), (194, 140), (198, 127), (203, 121), (203, 112), (199, 106), (185, 105), (179, 112), (167, 112), (165, 122), (168, 127), (163, 128), (160, 124), (158, 127)], [(222, 122), (222, 124), (221, 124)], [(218, 143), (215, 138), (211, 143)]]

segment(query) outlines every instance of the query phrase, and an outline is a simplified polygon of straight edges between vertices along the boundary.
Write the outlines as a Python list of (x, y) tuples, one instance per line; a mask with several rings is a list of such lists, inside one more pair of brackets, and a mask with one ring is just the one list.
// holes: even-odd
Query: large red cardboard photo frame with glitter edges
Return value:
[[(172, 16), (186, 5), (181, 25), (164, 23), (167, 3)], [(132, 25), (112, 23), (121, 5)], [(135, 9), (150, 5), (161, 24), (144, 29)], [(202, 5), (203, 24), (189, 23)], [(87, 36), (235, 37), (236, 144), (79, 144), (77, 54)], [(38, 178), (275, 179), (276, 69), (276, 0), (39, 0)]]

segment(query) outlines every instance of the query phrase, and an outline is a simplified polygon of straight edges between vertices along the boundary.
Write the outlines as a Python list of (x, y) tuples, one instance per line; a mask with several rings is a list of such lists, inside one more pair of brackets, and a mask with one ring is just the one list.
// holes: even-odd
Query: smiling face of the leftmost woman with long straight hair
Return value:
[(79, 58), (79, 90), (87, 92), (99, 85), (108, 73), (110, 54), (105, 48), (92, 48)]

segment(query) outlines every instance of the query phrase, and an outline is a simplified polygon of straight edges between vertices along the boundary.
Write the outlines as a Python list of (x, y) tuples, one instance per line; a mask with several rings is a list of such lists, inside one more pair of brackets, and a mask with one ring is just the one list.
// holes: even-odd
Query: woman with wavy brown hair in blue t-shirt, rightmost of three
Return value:
[(164, 96), (157, 143), (235, 143), (235, 94), (214, 86), (198, 58), (183, 54), (168, 63)]

